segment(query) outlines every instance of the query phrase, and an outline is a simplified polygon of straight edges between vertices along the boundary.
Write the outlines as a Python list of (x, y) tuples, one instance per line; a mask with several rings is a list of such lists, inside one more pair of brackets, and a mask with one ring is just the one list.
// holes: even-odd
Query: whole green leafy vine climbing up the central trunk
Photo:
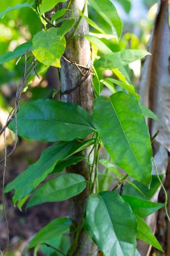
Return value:
[[(79, 21), (75, 17), (67, 18), (67, 12), (72, 12), (71, 1), (67, 8), (57, 10), (48, 20), (45, 12), (49, 11), (59, 2), (63, 1), (32, 1), (29, 4), (9, 7), (2, 13), (3, 16), (13, 9), (22, 7), (32, 8), (44, 29), (34, 35), (30, 42), (18, 46), (13, 52), (4, 53), (0, 56), (0, 63), (21, 57), (29, 53), (33, 54), (36, 62), (46, 66), (60, 67), (60, 58), (65, 52), (67, 42), (76, 36), (75, 32), (81, 19), (85, 18), (95, 30), (102, 32), (109, 38), (120, 38), (122, 34), (122, 21), (109, 0), (89, 0), (89, 8), (100, 16), (108, 24), (102, 26), (102, 22), (95, 24), (85, 16), (84, 11), (79, 10)], [(121, 1), (126, 11), (130, 8), (130, 2)], [(84, 10), (87, 7), (85, 1)], [(62, 20), (60, 20), (62, 19)], [(58, 24), (62, 22), (61, 26)], [(105, 24), (105, 23), (104, 23)], [(50, 26), (47, 29), (47, 25)], [(75, 32), (66, 38), (67, 32), (75, 26)], [(99, 39), (103, 34), (83, 34), (91, 43), (95, 51), (93, 65), (93, 89), (95, 92), (95, 104), (93, 115), (77, 104), (59, 102), (57, 100), (35, 100), (21, 105), (17, 115), (17, 134), (28, 139), (54, 142), (48, 147), (40, 159), (30, 165), (17, 178), (5, 188), (5, 192), (14, 190), (13, 202), (20, 209), (26, 201), (27, 207), (32, 207), (44, 202), (65, 201), (80, 194), (88, 185), (91, 193), (87, 209), (82, 216), (83, 221), (79, 228), (75, 228), (69, 218), (57, 218), (42, 228), (30, 241), (28, 249), (43, 248), (48, 245), (54, 249), (52, 238), (58, 241), (69, 232), (69, 228), (79, 236), (80, 230), (85, 229), (99, 250), (106, 256), (124, 255), (132, 256), (136, 253), (136, 238), (153, 245), (163, 251), (151, 229), (142, 218), (156, 212), (164, 204), (149, 201), (157, 191), (155, 177), (152, 176), (152, 147), (145, 117), (157, 119), (157, 117), (140, 104), (140, 96), (130, 83), (130, 77), (126, 66), (145, 57), (149, 53), (140, 50), (124, 50), (114, 52), (106, 42)], [(117, 77), (105, 77), (103, 71), (110, 69)], [(120, 86), (121, 92), (116, 90)], [(103, 86), (107, 86), (112, 95), (101, 96)], [(16, 119), (11, 122), (9, 128), (15, 132)], [(87, 139), (87, 136), (91, 139)], [(80, 140), (81, 139), (81, 140)], [(92, 146), (89, 156), (83, 156), (83, 150)], [(108, 160), (102, 160), (105, 171), (99, 173), (99, 150), (103, 146), (110, 156)], [(91, 154), (94, 154), (93, 162), (90, 162)], [(87, 161), (90, 177), (94, 179), (86, 181), (80, 174), (60, 174), (65, 167), (77, 164), (81, 160)], [(122, 172), (122, 170), (124, 172)], [(58, 176), (46, 181), (50, 174)], [(111, 175), (108, 185), (110, 191), (99, 191), (99, 174), (103, 174), (104, 180)], [(113, 186), (113, 181), (116, 184)], [(44, 182), (43, 184), (41, 184)], [(124, 191), (119, 187), (124, 182)], [(40, 187), (38, 187), (40, 185)], [(93, 193), (94, 187), (96, 188)], [(129, 193), (128, 193), (129, 191)], [(81, 196), (81, 195), (80, 195)], [(146, 198), (145, 198), (146, 197)], [(147, 199), (147, 200), (146, 200)], [(74, 241), (67, 255), (74, 255), (76, 248)], [(59, 245), (58, 245), (59, 248)], [(60, 252), (60, 249), (55, 248)], [(54, 250), (55, 251), (55, 250)], [(54, 252), (53, 252), (54, 253)], [(51, 253), (51, 255), (53, 255)]]

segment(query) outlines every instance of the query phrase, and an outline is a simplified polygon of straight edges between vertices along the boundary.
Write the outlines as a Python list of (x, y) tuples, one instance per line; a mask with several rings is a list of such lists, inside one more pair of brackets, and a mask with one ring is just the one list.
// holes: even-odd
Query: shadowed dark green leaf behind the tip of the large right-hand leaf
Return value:
[[(163, 175), (160, 175), (159, 177), (160, 179), (162, 179)], [(134, 185), (136, 185), (136, 187), (138, 187), (138, 189), (140, 189), (140, 191), (142, 191), (144, 195), (139, 193), (130, 184), (124, 185), (123, 195), (131, 195), (132, 197), (140, 197), (142, 199), (150, 200), (160, 187), (160, 182), (157, 175), (152, 175), (150, 189), (148, 189), (148, 187), (144, 186), (142, 183), (139, 183), (138, 181), (132, 181), (132, 183), (134, 183)]]

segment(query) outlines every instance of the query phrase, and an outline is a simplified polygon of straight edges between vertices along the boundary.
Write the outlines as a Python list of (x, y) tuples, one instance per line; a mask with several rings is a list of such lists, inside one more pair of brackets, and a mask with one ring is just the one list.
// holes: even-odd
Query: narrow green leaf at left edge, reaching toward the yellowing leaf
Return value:
[(19, 58), (20, 56), (24, 55), (27, 51), (32, 49), (32, 41), (24, 42), (15, 48), (13, 52), (7, 52), (3, 55), (0, 55), (0, 64), (3, 64), (7, 61), (11, 61), (11, 59)]

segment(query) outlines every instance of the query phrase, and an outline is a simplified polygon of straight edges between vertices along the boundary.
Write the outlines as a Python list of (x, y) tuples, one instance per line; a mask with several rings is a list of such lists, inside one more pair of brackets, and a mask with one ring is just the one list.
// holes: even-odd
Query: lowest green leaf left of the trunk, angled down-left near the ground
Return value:
[(36, 247), (39, 243), (48, 243), (52, 238), (66, 232), (73, 224), (69, 218), (56, 218), (44, 226), (30, 241), (28, 248)]

